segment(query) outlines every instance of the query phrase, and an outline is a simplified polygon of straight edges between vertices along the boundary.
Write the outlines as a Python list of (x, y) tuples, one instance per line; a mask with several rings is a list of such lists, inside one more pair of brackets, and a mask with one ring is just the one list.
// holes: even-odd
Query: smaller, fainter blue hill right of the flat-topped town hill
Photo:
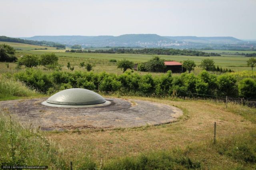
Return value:
[(196, 37), (196, 36), (165, 36), (168, 39), (175, 39), (177, 41), (190, 42), (190, 43), (217, 43), (217, 44), (237, 44), (242, 43), (240, 39), (234, 37)]

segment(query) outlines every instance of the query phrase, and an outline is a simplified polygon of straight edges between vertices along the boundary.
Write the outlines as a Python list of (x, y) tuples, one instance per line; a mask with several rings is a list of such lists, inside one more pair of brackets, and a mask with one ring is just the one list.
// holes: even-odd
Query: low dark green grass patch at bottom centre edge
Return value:
[(106, 163), (103, 170), (199, 169), (200, 162), (192, 161), (184, 150), (151, 152), (119, 158)]

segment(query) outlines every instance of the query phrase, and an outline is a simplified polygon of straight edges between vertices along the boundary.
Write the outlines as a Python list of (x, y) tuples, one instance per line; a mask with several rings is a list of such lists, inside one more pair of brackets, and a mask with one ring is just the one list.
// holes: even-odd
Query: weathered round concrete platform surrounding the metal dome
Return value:
[(141, 127), (170, 123), (182, 115), (177, 107), (142, 100), (110, 98), (109, 106), (63, 108), (42, 105), (46, 99), (2, 101), (0, 107), (42, 130)]

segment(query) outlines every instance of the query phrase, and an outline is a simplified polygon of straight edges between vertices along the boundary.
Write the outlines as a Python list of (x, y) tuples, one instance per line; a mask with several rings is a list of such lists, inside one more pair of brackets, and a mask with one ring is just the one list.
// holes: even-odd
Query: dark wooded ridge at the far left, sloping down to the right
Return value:
[(44, 46), (50, 46), (50, 47), (57, 47), (57, 48), (66, 48), (66, 45), (54, 43), (51, 41), (33, 41), (33, 40), (26, 40), (26, 39), (20, 39), (20, 38), (11, 38), (6, 36), (0, 36), (0, 41), (4, 42), (12, 42), (12, 43), (24, 43), (24, 44), (30, 44), (30, 45), (44, 45)]

